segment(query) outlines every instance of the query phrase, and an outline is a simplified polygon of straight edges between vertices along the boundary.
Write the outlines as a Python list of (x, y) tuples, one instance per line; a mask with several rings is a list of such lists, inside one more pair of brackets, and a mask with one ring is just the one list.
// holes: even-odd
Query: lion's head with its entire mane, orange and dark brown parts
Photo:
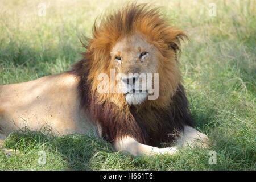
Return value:
[[(110, 140), (129, 133), (147, 143), (159, 133), (154, 137), (159, 142), (167, 131), (180, 130), (183, 120), (192, 122), (177, 67), (184, 38), (184, 32), (172, 27), (158, 8), (146, 4), (125, 6), (94, 23), (85, 58), (74, 69), (82, 78), (82, 100)], [(119, 76), (102, 84), (99, 75), (111, 78), (111, 71)], [(153, 90), (158, 74), (159, 96), (153, 100), (148, 97), (155, 93), (143, 87), (146, 82), (139, 77), (148, 78), (148, 73)], [(98, 92), (99, 85), (108, 92)]]

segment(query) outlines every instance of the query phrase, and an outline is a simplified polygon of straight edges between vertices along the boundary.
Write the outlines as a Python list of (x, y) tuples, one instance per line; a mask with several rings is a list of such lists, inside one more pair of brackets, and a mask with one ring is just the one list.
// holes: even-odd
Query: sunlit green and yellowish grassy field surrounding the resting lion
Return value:
[[(1, 0), (0, 84), (69, 70), (85, 51), (79, 39), (91, 35), (94, 19), (125, 2)], [(216, 164), (208, 162), (210, 150), (133, 158), (113, 152), (103, 140), (44, 131), (11, 134), (5, 147), (21, 154), (0, 152), (0, 170), (255, 170), (256, 2), (214, 1), (216, 16), (210, 3), (154, 2), (191, 39), (180, 68), (196, 127), (214, 141)], [(39, 164), (40, 151), (46, 164)]]

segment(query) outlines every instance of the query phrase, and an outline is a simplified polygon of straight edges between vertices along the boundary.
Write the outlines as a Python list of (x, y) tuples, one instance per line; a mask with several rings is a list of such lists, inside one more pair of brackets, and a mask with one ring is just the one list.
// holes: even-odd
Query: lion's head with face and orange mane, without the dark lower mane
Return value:
[[(159, 9), (134, 4), (106, 16), (99, 26), (94, 24), (93, 30), (94, 38), (89, 40), (87, 47), (93, 60), (88, 76), (92, 80), (93, 92), (98, 94), (97, 87), (102, 81), (97, 79), (100, 73), (110, 76), (110, 69), (116, 74), (123, 73), (115, 82), (118, 86), (112, 85), (121, 89), (123, 94), (114, 93), (114, 100), (113, 93), (99, 94), (100, 102), (111, 100), (119, 106), (124, 106), (125, 102), (142, 104), (147, 101), (148, 90), (140, 93), (139, 88), (133, 88), (134, 82), (141, 80), (137, 75), (158, 73), (159, 97), (148, 102), (159, 107), (168, 105), (181, 81), (176, 56), (180, 51), (180, 40), (186, 37), (184, 32), (170, 26)], [(134, 73), (134, 76), (129, 77), (129, 73)], [(138, 92), (130, 93), (131, 89)]]

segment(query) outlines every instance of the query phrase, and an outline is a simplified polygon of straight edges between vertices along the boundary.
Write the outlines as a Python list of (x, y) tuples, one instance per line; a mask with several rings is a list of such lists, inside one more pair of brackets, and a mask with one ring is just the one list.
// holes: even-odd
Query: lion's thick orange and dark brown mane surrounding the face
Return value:
[[(140, 32), (158, 49), (159, 98), (143, 104), (127, 105), (123, 94), (99, 94), (97, 75), (114, 66), (110, 51), (118, 39)], [(75, 64), (72, 73), (80, 77), (81, 107), (102, 127), (102, 135), (112, 142), (124, 135), (138, 142), (160, 146), (174, 140), (184, 125), (193, 126), (188, 102), (177, 68), (183, 31), (171, 27), (157, 8), (131, 4), (105, 16), (93, 26), (93, 38), (84, 43), (84, 59)]]

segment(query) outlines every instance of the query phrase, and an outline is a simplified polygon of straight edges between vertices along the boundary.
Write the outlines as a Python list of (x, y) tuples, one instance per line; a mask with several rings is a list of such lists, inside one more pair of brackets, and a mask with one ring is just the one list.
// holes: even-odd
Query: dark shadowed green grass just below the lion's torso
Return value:
[(90, 170), (90, 159), (93, 155), (102, 151), (113, 152), (112, 147), (100, 138), (80, 134), (56, 137), (51, 131), (32, 132), (28, 129), (10, 134), (4, 147), (29, 153), (38, 146), (38, 150), (47, 150), (61, 156), (68, 164), (64, 170)]

